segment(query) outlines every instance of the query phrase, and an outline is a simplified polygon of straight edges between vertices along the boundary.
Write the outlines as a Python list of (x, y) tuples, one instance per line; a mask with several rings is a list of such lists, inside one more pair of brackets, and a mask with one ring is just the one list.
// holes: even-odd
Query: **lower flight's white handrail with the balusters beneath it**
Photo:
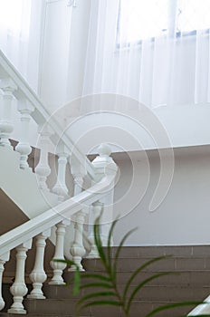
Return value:
[[(8, 310), (10, 313), (25, 313), (23, 299), (28, 292), (24, 283), (24, 264), (26, 260), (26, 252), (32, 247), (32, 239), (36, 238), (36, 258), (32, 273), (29, 275), (33, 283), (33, 291), (28, 295), (29, 298), (44, 299), (42, 287), (47, 276), (43, 270), (43, 256), (45, 239), (51, 235), (52, 226), (57, 227), (56, 244), (54, 259), (63, 259), (63, 236), (65, 228), (69, 225), (71, 216), (81, 211), (82, 205), (91, 206), (96, 201), (100, 201), (101, 197), (109, 194), (110, 186), (113, 184), (116, 166), (112, 164), (106, 170), (108, 175), (100, 180), (100, 182), (88, 191), (72, 197), (57, 207), (36, 216), (21, 226), (14, 228), (5, 235), (0, 236), (0, 285), (2, 284), (3, 271), (5, 262), (9, 260), (9, 253), (16, 248), (16, 271), (15, 280), (10, 288), (14, 296), (14, 303)], [(82, 235), (82, 232), (81, 232)], [(62, 284), (62, 271), (65, 264), (51, 262), (53, 269), (52, 281), (50, 284)], [(0, 293), (0, 309), (5, 306), (5, 301)]]

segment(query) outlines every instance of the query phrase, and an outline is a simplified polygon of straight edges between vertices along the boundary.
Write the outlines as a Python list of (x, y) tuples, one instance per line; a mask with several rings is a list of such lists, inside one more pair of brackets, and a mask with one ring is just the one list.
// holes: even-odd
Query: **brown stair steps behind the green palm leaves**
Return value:
[[(116, 248), (113, 248), (112, 255)], [(131, 272), (140, 264), (160, 255), (172, 255), (172, 257), (161, 260), (156, 264), (150, 265), (135, 280), (130, 289), (142, 280), (158, 272), (173, 272), (174, 274), (160, 277), (148, 283), (143, 290), (138, 293), (133, 303), (129, 317), (145, 317), (148, 312), (157, 306), (167, 303), (179, 303), (182, 301), (202, 301), (209, 293), (210, 277), (210, 247), (206, 245), (195, 246), (142, 246), (142, 247), (123, 247), (119, 257), (118, 281), (119, 289), (125, 285)], [(97, 271), (101, 274), (99, 259), (84, 259), (83, 265), (87, 272)], [(85, 273), (82, 273), (85, 274)], [(64, 272), (66, 281), (72, 280), (73, 274), (67, 270)], [(28, 285), (29, 289), (32, 285)], [(9, 284), (4, 285), (4, 294), (9, 296)], [(82, 294), (88, 291), (82, 291)], [(46, 300), (25, 299), (24, 306), (28, 316), (71, 316), (74, 314), (74, 305), (80, 295), (72, 295), (72, 284), (63, 285), (43, 285), (43, 293), (47, 296)], [(192, 306), (179, 307), (166, 312), (159, 312), (159, 317), (184, 316), (192, 309)], [(2, 313), (0, 316), (6, 316)], [(11, 315), (13, 316), (13, 314)], [(120, 308), (112, 306), (95, 306), (87, 308), (81, 313), (82, 317), (123, 317)]]

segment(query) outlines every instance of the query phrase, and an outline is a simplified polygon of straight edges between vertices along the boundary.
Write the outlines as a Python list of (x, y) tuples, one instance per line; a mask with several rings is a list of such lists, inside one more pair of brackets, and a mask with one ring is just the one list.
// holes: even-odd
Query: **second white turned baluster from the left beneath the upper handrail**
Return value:
[(32, 147), (28, 141), (29, 123), (31, 120), (31, 113), (33, 112), (33, 106), (26, 100), (18, 102), (18, 111), (21, 113), (21, 140), (15, 147), (15, 150), (20, 153), (20, 168), (28, 168), (28, 156), (32, 151)]

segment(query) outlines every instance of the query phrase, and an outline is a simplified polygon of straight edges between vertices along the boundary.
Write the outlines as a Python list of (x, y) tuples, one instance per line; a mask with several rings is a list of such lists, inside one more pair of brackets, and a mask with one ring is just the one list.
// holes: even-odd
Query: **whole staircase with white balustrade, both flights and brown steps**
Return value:
[[(71, 317), (77, 299), (72, 298), (71, 285), (63, 286), (63, 278), (67, 281), (75, 267), (67, 271), (66, 264), (52, 260), (65, 256), (81, 271), (85, 268), (102, 274), (92, 224), (102, 211), (104, 223), (113, 220), (113, 185), (118, 168), (110, 158), (110, 148), (104, 144), (99, 147), (96, 159), (86, 158), (2, 52), (0, 80), (0, 195), (11, 206), (14, 204), (19, 214), (18, 223), (1, 226), (0, 316)], [(15, 111), (21, 130), (12, 142)], [(37, 162), (33, 168), (28, 164), (32, 152), (31, 121), (37, 127), (34, 154)], [(50, 158), (53, 158), (51, 164)], [(108, 235), (109, 226), (101, 226), (102, 240), (107, 241)], [(31, 255), (30, 250), (33, 250)], [(148, 284), (139, 293), (130, 317), (143, 317), (161, 303), (202, 301), (210, 293), (208, 246), (124, 248), (119, 259), (119, 288), (144, 261), (166, 254), (173, 257), (151, 265), (150, 271), (142, 272), (140, 278), (160, 271), (181, 274)], [(89, 259), (85, 259), (86, 255)], [(10, 274), (8, 267), (12, 270)], [(177, 316), (191, 308), (161, 312), (159, 316)], [(119, 308), (113, 307), (95, 307), (83, 312), (83, 317), (108, 315), (123, 316)]]

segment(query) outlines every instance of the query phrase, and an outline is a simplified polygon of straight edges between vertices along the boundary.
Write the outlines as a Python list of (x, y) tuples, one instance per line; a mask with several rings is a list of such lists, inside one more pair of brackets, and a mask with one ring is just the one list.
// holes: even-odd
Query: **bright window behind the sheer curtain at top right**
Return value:
[(210, 27), (210, 0), (120, 0), (118, 43)]

